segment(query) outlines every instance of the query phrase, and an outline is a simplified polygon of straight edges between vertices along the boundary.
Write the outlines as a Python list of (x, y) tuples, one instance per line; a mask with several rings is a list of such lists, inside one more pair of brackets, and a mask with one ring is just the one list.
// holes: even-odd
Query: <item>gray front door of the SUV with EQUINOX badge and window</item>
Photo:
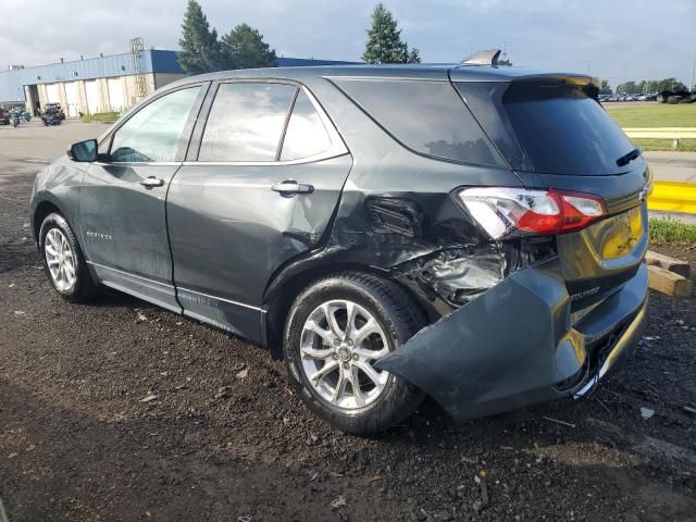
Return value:
[(177, 311), (165, 199), (207, 87), (167, 91), (119, 125), (80, 191), (84, 247), (99, 279)]

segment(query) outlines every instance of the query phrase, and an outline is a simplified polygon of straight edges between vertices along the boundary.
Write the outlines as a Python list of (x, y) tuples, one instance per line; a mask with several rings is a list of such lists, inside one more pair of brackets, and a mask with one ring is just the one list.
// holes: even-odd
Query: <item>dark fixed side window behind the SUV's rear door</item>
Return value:
[(448, 82), (336, 83), (391, 136), (415, 152), (463, 163), (504, 164)]

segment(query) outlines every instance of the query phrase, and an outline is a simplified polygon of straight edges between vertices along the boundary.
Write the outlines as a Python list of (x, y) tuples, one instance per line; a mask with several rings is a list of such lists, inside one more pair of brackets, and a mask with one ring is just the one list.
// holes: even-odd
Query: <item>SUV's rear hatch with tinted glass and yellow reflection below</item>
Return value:
[(478, 123), (527, 188), (586, 192), (608, 216), (556, 238), (575, 310), (618, 288), (647, 249), (650, 173), (635, 146), (597, 101), (586, 76), (534, 75), (507, 82), (451, 80)]

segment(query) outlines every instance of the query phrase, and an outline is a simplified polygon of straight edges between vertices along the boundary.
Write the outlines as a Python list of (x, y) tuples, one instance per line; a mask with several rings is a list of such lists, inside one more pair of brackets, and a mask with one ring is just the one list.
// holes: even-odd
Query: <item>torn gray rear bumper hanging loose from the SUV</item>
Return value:
[(643, 335), (647, 269), (585, 311), (563, 281), (531, 266), (424, 328), (376, 363), (463, 421), (583, 396), (630, 358)]

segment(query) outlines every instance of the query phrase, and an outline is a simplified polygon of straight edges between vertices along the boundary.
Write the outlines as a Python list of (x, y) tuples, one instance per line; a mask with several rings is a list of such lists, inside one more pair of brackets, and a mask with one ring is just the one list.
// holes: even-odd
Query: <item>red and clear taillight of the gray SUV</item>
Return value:
[(457, 197), (493, 239), (579, 231), (607, 214), (599, 196), (584, 192), (481, 187)]

